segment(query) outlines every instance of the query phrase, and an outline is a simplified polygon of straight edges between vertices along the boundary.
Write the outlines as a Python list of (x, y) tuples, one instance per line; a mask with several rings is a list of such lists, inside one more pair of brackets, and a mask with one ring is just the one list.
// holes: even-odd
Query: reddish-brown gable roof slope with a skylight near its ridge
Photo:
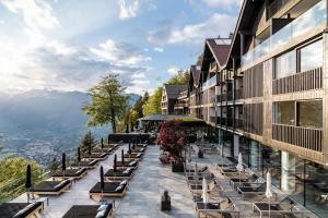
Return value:
[(220, 38), (209, 38), (206, 40), (206, 45), (211, 50), (215, 61), (222, 68), (225, 62), (230, 51), (230, 39), (220, 39)]

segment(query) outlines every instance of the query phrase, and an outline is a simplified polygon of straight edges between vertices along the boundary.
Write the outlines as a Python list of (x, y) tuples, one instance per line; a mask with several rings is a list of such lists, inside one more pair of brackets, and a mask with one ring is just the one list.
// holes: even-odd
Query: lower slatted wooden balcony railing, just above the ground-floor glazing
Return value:
[(272, 138), (306, 149), (323, 152), (323, 130), (272, 124)]

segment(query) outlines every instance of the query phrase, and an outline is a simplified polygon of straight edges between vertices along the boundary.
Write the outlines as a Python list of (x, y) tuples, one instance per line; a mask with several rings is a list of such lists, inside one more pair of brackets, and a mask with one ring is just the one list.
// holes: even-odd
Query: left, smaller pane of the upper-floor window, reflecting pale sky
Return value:
[(296, 51), (292, 50), (276, 58), (274, 66), (274, 78), (282, 78), (296, 73)]

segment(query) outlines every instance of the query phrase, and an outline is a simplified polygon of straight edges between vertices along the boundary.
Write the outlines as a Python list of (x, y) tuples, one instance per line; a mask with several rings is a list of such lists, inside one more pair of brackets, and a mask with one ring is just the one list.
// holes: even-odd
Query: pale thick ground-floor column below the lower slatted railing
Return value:
[(281, 152), (281, 190), (286, 194), (292, 194), (296, 190), (295, 164), (295, 156)]

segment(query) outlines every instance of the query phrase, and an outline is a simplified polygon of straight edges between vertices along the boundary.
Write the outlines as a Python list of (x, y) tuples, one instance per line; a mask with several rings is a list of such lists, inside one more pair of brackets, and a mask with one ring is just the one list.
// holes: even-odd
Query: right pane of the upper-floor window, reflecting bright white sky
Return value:
[(301, 72), (323, 66), (323, 40), (318, 40), (300, 49), (300, 56)]

